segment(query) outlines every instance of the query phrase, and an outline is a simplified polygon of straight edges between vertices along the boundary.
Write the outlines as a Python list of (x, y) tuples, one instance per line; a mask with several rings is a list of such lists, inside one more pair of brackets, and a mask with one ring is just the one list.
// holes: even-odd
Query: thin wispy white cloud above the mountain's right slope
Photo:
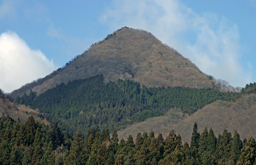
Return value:
[(251, 81), (239, 63), (238, 27), (224, 17), (197, 14), (179, 0), (114, 0), (113, 5), (101, 18), (112, 30), (123, 26), (147, 30), (206, 74), (234, 86)]

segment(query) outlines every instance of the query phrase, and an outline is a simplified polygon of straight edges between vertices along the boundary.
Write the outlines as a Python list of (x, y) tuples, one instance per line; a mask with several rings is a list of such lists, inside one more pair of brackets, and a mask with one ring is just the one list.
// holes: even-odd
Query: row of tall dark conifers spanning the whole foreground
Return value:
[[(134, 142), (135, 141), (135, 142)], [(191, 145), (182, 144), (180, 135), (171, 131), (164, 138), (154, 132), (130, 135), (119, 141), (114, 129), (90, 129), (83, 140), (78, 131), (73, 140), (54, 124), (0, 118), (0, 164), (3, 165), (253, 165), (256, 142), (250, 137), (240, 140), (225, 129), (218, 138), (213, 130), (200, 135), (194, 124)]]

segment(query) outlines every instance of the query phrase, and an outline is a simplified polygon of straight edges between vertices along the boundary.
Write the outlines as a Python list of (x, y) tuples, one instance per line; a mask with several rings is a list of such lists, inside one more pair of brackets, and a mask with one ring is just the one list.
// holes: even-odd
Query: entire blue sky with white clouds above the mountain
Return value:
[(230, 85), (256, 81), (256, 0), (0, 0), (0, 88), (50, 74), (123, 26)]

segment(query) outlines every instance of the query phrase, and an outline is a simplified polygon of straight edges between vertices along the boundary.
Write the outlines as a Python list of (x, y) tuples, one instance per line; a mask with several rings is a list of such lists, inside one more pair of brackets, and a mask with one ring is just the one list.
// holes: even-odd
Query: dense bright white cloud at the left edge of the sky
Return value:
[(40, 50), (31, 50), (16, 33), (0, 35), (0, 88), (11, 92), (54, 71), (53, 60)]

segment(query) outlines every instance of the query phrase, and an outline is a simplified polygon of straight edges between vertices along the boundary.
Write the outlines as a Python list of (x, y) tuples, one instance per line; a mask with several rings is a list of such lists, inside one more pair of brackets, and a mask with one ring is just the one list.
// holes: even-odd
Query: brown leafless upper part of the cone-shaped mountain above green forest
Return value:
[[(176, 50), (164, 45), (151, 33), (123, 27), (103, 41), (92, 44), (84, 54), (74, 58), (44, 79), (12, 93), (32, 91), (40, 94), (57, 84), (103, 74), (105, 81), (130, 79), (146, 87), (212, 87), (208, 77)], [(26, 88), (25, 88), (26, 87)]]

